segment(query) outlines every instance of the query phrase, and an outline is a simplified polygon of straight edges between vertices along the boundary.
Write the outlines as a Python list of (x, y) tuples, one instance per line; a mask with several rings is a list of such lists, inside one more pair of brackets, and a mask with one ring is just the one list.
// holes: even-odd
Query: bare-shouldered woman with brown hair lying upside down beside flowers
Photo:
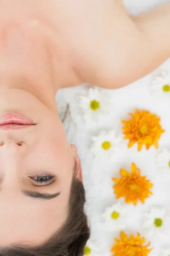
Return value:
[(122, 87), (155, 69), (170, 56), (170, 3), (136, 17), (120, 0), (0, 7), (0, 255), (81, 256), (81, 166), (55, 93), (84, 81)]

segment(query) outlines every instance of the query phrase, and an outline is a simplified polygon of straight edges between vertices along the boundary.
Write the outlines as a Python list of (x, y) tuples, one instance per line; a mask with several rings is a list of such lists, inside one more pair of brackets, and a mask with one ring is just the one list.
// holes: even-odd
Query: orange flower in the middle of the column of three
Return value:
[(140, 169), (138, 169), (135, 163), (132, 163), (131, 173), (128, 173), (125, 169), (120, 169), (121, 178), (112, 178), (116, 184), (113, 186), (116, 198), (125, 197), (127, 204), (137, 204), (138, 200), (144, 204), (146, 198), (152, 195), (150, 188), (153, 184), (150, 180), (146, 180), (146, 176), (140, 175)]

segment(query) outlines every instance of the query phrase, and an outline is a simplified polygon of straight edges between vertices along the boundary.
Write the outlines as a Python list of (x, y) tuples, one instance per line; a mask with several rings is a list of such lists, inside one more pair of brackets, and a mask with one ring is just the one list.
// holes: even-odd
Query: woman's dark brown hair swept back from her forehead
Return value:
[(85, 190), (74, 178), (68, 204), (68, 218), (61, 229), (48, 241), (36, 247), (11, 245), (0, 248), (0, 256), (82, 256), (90, 236), (87, 217), (83, 210)]

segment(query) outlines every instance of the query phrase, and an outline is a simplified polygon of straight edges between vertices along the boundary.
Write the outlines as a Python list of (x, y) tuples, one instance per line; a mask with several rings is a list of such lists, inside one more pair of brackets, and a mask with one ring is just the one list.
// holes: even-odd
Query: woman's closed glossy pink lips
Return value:
[(8, 113), (0, 117), (0, 130), (23, 129), (35, 125), (21, 113)]

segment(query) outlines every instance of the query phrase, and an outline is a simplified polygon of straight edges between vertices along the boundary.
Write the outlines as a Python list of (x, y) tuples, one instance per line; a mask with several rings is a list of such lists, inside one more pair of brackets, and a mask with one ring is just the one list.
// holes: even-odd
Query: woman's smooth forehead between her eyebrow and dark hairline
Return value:
[(0, 200), (0, 246), (41, 244), (56, 233), (67, 218), (68, 200), (24, 199)]

